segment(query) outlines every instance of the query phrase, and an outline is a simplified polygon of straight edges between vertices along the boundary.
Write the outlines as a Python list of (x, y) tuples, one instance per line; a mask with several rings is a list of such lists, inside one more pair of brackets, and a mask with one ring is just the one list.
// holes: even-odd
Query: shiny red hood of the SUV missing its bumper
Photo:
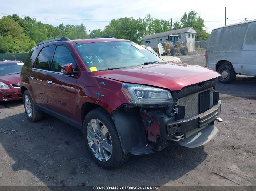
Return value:
[(96, 75), (122, 82), (151, 85), (169, 90), (181, 90), (185, 86), (220, 76), (218, 72), (202, 66), (171, 62), (99, 71), (96, 72)]

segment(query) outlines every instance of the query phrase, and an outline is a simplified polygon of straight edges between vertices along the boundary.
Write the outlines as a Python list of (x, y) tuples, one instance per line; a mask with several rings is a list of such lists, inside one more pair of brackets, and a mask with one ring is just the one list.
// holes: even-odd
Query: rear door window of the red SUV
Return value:
[(39, 56), (37, 58), (36, 64), (34, 68), (42, 69), (42, 70), (49, 70), (49, 65), (52, 59), (52, 53), (54, 51), (54, 46), (47, 46), (44, 47)]

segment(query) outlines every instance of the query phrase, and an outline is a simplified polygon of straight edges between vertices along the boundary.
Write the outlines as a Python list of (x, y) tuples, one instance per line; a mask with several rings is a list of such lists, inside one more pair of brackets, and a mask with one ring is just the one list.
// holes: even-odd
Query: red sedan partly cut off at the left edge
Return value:
[(21, 61), (0, 62), (0, 102), (21, 99)]

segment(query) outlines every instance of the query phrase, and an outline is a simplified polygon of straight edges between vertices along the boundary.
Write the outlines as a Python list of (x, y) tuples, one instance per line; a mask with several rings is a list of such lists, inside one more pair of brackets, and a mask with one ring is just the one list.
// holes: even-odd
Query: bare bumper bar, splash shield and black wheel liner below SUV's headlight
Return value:
[(123, 152), (141, 155), (160, 151), (175, 142), (190, 148), (204, 145), (216, 135), (214, 120), (220, 113), (221, 100), (209, 110), (186, 120), (175, 120), (163, 111), (141, 111), (128, 105), (111, 115)]

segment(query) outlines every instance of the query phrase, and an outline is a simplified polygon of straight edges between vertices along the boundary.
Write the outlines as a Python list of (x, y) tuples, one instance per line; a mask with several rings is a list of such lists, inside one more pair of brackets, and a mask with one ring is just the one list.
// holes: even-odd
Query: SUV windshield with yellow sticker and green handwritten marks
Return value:
[(74, 45), (88, 71), (126, 68), (148, 62), (164, 62), (133, 42), (98, 42)]

